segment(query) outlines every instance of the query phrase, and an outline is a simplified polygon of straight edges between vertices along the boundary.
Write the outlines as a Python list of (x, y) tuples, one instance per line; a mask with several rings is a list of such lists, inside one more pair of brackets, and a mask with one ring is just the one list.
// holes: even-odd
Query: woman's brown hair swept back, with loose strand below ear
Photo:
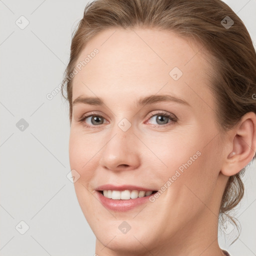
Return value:
[[(62, 82), (62, 95), (66, 86), (70, 122), (70, 74), (83, 47), (104, 29), (136, 26), (171, 30), (204, 45), (214, 70), (210, 86), (216, 98), (220, 134), (237, 124), (246, 112), (256, 113), (252, 96), (256, 92), (255, 49), (243, 22), (227, 4), (221, 0), (95, 0), (85, 6), (83, 18), (72, 35), (70, 59)], [(247, 166), (229, 177), (220, 204), (220, 216), (228, 216), (229, 210), (241, 200), (244, 192), (241, 175)]]

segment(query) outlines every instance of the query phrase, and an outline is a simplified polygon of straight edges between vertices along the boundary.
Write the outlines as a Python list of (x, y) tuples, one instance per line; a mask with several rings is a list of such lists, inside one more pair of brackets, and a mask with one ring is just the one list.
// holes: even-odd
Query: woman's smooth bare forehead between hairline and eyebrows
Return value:
[(125, 101), (131, 96), (134, 102), (134, 97), (159, 92), (182, 96), (198, 107), (213, 107), (206, 86), (211, 66), (202, 45), (171, 31), (103, 30), (88, 41), (75, 68), (73, 100), (80, 95), (111, 100), (114, 94)]

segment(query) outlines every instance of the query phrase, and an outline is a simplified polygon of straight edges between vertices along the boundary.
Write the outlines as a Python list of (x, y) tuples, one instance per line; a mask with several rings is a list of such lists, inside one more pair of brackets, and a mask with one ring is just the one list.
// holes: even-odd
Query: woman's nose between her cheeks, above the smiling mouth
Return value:
[(140, 164), (138, 142), (131, 127), (123, 131), (116, 125), (102, 148), (99, 164), (112, 171), (137, 168)]

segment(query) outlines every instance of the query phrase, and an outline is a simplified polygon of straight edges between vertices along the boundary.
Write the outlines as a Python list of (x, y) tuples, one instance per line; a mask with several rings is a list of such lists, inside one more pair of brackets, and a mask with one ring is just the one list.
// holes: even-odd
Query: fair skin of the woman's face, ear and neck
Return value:
[[(74, 188), (96, 236), (95, 253), (223, 255), (217, 242), (220, 200), (228, 176), (254, 155), (255, 114), (244, 115), (221, 138), (207, 86), (206, 71), (212, 67), (199, 43), (173, 32), (107, 29), (89, 40), (77, 63), (95, 47), (98, 54), (73, 78), (72, 100), (96, 96), (104, 104), (74, 104), (69, 139), (70, 167), (80, 175)], [(183, 72), (178, 80), (169, 75), (175, 66)], [(136, 105), (151, 94), (174, 95), (190, 106), (173, 101)], [(102, 124), (91, 123), (90, 117), (79, 122), (91, 111), (102, 116)], [(174, 114), (177, 121), (159, 124), (159, 111)], [(118, 126), (123, 118), (131, 124), (127, 131)], [(159, 190), (198, 150), (200, 156), (154, 202), (117, 212), (96, 197), (95, 188), (107, 183)], [(123, 220), (131, 226), (126, 234), (118, 229)]]

